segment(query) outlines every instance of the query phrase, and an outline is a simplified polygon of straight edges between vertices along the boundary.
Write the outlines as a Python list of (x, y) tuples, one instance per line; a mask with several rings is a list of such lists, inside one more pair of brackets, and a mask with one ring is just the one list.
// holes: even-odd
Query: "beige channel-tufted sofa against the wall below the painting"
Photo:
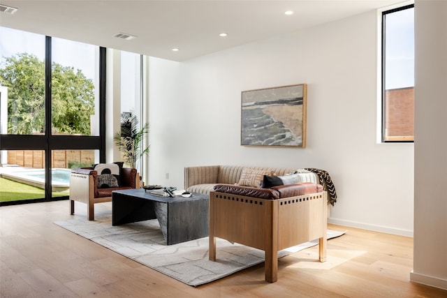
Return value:
[(214, 186), (217, 184), (238, 184), (242, 172), (247, 172), (247, 170), (264, 170), (265, 172), (276, 176), (283, 176), (298, 170), (300, 173), (300, 182), (319, 183), (318, 175), (305, 169), (286, 167), (249, 167), (242, 165), (206, 165), (184, 168), (184, 188), (186, 191), (207, 195), (213, 191)]

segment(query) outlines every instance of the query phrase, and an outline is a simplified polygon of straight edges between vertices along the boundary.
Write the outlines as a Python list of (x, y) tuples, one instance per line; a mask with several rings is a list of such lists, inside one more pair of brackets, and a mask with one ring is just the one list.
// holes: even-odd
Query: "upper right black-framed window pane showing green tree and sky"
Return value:
[(52, 38), (52, 135), (99, 135), (99, 47)]

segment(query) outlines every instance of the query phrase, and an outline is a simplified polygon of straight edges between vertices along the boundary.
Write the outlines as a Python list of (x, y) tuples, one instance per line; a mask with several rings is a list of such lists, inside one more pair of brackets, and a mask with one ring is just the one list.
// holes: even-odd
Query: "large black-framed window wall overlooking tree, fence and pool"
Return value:
[(27, 200), (67, 198), (68, 169), (105, 160), (105, 49), (5, 27), (0, 36), (0, 204), (24, 187), (41, 190)]

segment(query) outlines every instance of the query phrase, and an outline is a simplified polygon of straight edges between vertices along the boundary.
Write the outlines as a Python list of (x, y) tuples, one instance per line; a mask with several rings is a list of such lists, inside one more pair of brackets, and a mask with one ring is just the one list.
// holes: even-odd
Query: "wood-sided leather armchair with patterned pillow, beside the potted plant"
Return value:
[(140, 188), (140, 174), (122, 163), (98, 164), (71, 170), (70, 214), (75, 201), (87, 204), (87, 218), (94, 221), (94, 204), (112, 201), (112, 191)]

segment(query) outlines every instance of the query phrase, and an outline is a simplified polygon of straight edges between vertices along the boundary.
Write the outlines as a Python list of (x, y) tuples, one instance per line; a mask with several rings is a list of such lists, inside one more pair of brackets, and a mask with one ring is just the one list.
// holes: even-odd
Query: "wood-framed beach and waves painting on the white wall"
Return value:
[(242, 91), (242, 146), (306, 147), (307, 85)]

